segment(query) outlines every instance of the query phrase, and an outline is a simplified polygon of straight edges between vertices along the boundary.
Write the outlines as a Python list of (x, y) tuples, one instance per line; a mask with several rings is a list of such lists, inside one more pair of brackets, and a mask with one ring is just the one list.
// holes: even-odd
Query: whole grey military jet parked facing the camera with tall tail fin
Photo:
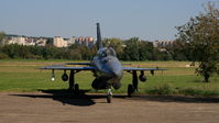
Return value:
[[(151, 71), (154, 75), (154, 70), (165, 70), (160, 68), (136, 68), (136, 67), (123, 67), (117, 58), (117, 54), (112, 47), (103, 47), (100, 34), (100, 24), (97, 23), (97, 55), (90, 63), (66, 63), (65, 65), (45, 66), (40, 69), (52, 69), (52, 80), (55, 80), (54, 70), (64, 70), (62, 76), (63, 81), (69, 79), (69, 90), (73, 90), (75, 94), (79, 92), (79, 85), (75, 83), (75, 74), (81, 70), (90, 70), (94, 72), (96, 79), (92, 81), (91, 87), (94, 89), (108, 89), (107, 102), (111, 102), (112, 92), (111, 87), (119, 89), (121, 87), (120, 80), (122, 79), (123, 71), (132, 74), (132, 83), (128, 86), (128, 97), (132, 97), (132, 93), (138, 90), (138, 71), (140, 71), (139, 79), (146, 81), (145, 70)], [(84, 65), (84, 67), (73, 67), (68, 65)], [(66, 70), (70, 70), (69, 78)]]

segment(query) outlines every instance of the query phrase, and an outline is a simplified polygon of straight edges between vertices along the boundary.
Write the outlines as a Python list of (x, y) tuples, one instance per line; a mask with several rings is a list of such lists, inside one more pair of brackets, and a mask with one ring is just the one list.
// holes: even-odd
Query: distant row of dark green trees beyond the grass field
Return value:
[[(154, 47), (152, 42), (140, 41), (138, 37), (122, 41), (120, 38), (103, 40), (105, 46), (111, 46), (121, 60), (190, 60), (189, 54), (182, 43), (168, 45), (166, 51)], [(177, 47), (177, 48), (176, 48)], [(18, 44), (0, 45), (0, 59), (24, 58), (24, 59), (83, 59), (89, 60), (97, 53), (97, 47), (87, 47), (73, 44), (68, 47), (25, 46)]]

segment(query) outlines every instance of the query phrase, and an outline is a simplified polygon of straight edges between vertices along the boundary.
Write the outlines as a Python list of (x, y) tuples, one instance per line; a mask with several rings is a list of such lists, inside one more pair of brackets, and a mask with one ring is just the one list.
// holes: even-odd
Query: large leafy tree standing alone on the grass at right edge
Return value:
[(189, 45), (194, 60), (199, 62), (196, 72), (208, 82), (215, 72), (219, 74), (219, 10), (213, 2), (205, 10), (177, 30), (178, 40)]

